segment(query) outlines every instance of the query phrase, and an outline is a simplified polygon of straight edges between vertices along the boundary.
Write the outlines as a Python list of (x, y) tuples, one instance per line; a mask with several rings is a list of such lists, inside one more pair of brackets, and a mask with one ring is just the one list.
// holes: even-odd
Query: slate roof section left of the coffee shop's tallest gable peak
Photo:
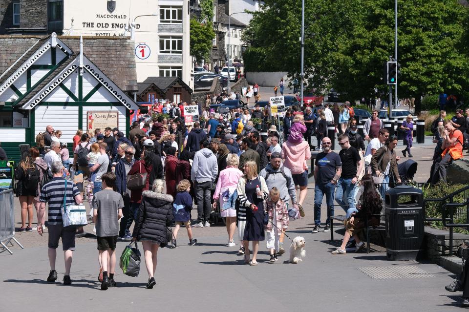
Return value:
[[(43, 38), (23, 36), (0, 36), (0, 75), (5, 72), (16, 60), (16, 64), (0, 77), (0, 85), (10, 77), (23, 62), (27, 61), (39, 49), (50, 36)], [(32, 47), (32, 48), (31, 48)], [(28, 49), (31, 48), (29, 51)], [(28, 51), (26, 53), (26, 51)], [(23, 53), (26, 53), (23, 55)]]

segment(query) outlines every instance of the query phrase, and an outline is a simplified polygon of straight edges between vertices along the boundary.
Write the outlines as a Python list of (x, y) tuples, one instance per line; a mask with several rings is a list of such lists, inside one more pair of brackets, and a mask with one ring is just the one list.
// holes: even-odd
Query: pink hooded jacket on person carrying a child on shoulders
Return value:
[(308, 142), (303, 141), (299, 144), (286, 141), (282, 144), (282, 159), (285, 159), (283, 166), (292, 171), (292, 174), (303, 173), (307, 168), (307, 160), (311, 158)]

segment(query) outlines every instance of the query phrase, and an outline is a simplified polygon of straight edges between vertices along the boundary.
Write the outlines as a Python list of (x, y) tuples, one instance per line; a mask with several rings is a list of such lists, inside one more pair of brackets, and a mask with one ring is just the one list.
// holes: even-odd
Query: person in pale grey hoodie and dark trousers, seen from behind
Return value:
[(191, 169), (191, 180), (194, 183), (195, 198), (197, 198), (197, 223), (194, 228), (210, 227), (210, 190), (218, 174), (216, 156), (208, 147), (210, 142), (202, 140), (200, 150), (195, 152)]

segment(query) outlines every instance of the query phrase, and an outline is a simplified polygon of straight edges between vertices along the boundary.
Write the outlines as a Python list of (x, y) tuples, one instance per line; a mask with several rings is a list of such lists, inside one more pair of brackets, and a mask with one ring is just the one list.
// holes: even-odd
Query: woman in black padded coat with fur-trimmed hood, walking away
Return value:
[(155, 179), (151, 191), (142, 193), (143, 199), (132, 235), (133, 241), (142, 242), (149, 276), (146, 286), (148, 289), (152, 289), (156, 284), (153, 277), (156, 270), (156, 254), (160, 244), (167, 243), (166, 227), (171, 226), (174, 218), (172, 215), (172, 196), (164, 194), (163, 191), (163, 180)]

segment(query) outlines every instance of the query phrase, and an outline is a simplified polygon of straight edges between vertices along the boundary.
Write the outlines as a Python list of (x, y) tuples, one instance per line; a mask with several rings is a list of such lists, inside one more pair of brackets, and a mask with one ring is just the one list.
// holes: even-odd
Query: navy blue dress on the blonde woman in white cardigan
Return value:
[(257, 198), (256, 186), (261, 187), (259, 178), (254, 180), (246, 179), (246, 192), (247, 200), (257, 206), (257, 211), (247, 207), (246, 208), (246, 227), (244, 228), (245, 241), (263, 241), (264, 240), (264, 204), (263, 199)]

